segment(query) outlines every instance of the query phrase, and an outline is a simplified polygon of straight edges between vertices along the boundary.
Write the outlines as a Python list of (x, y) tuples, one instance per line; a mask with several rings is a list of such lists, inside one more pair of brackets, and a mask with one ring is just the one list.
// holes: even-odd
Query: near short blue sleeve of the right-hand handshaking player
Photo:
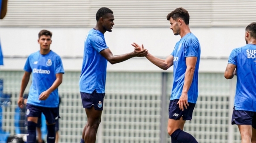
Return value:
[(184, 44), (185, 57), (198, 57), (199, 42), (196, 39), (187, 39)]

